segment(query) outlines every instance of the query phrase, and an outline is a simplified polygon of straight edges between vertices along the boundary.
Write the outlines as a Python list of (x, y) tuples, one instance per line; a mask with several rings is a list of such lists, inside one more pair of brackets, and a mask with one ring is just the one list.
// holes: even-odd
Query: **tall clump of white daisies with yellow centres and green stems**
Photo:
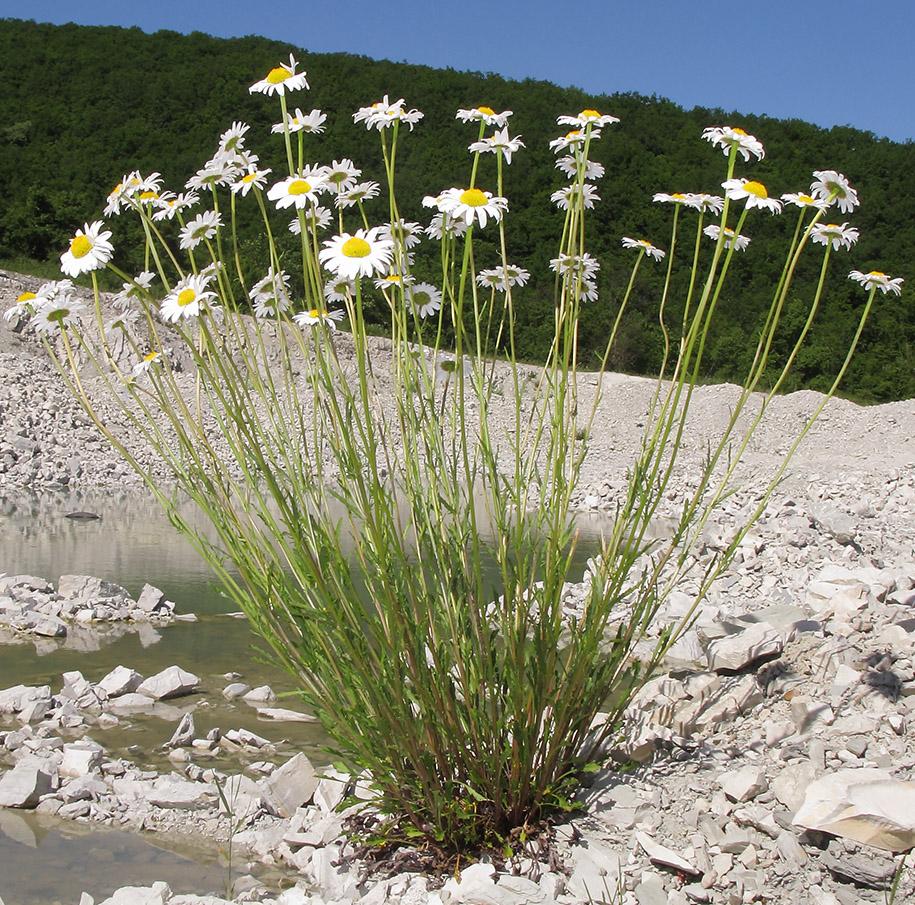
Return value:
[[(669, 240), (662, 248), (620, 236), (634, 258), (628, 281), (619, 282), (625, 288), (608, 294), (587, 243), (603, 174), (591, 149), (622, 127), (592, 109), (560, 116), (564, 134), (550, 147), (565, 180), (552, 193), (551, 216), (561, 225), (553, 273), (539, 276), (554, 287), (552, 344), (532, 370), (515, 355), (517, 298), (538, 278), (508, 255), (508, 168), (524, 148), (509, 132), (511, 111), (458, 111), (479, 130), (468, 173), (455, 173), (451, 187), (430, 187), (438, 194), (423, 199), (432, 211), (423, 227), (404, 220), (394, 190), (398, 144), (412, 140), (423, 114), (387, 96), (356, 112), (351, 128), (377, 131), (384, 160), (379, 182), (357, 182), (362, 170), (349, 158), (304, 164), (320, 149), (308, 145), (306, 158), (305, 142), (319, 141), (327, 122), (318, 110), (287, 109), (287, 94), (307, 88), (292, 57), (250, 88), (279, 101), (273, 133), (285, 145), (288, 175), (259, 168), (245, 147), (247, 127), (233, 123), (186, 194), (163, 192), (158, 174), (132, 173), (109, 195), (106, 214), (132, 213), (146, 248), (144, 273), (121, 274), (118, 307), (129, 316), (106, 327), (94, 281), (94, 318), (68, 281), (20, 297), (9, 316), (34, 317), (90, 417), (294, 677), (333, 756), (374, 789), (376, 838), (504, 851), (569, 806), (583, 773), (606, 756), (633, 694), (732, 559), (740, 532), (692, 575), (700, 533), (733, 490), (745, 425), (752, 433), (782, 385), (831, 257), (858, 238), (848, 222), (823, 218), (833, 206), (851, 213), (857, 192), (824, 170), (808, 192), (782, 196), (799, 219), (750, 372), (682, 517), (658, 539), (653, 526), (677, 475), (722, 287), (734, 254), (752, 254), (746, 221), (784, 219), (761, 182), (735, 175), (738, 164), (764, 156), (762, 143), (736, 127), (707, 129), (702, 137), (725, 156), (724, 194), (659, 186), (654, 200), (672, 215)], [(372, 201), (382, 186), (386, 204)], [(319, 205), (323, 194), (333, 197), (333, 213)], [(187, 219), (198, 199), (203, 209)], [(256, 205), (263, 219), (257, 273), (242, 271), (236, 204)], [(300, 244), (295, 268), (273, 241), (290, 213)], [(693, 231), (686, 252), (684, 225)], [(481, 231), (486, 242), (477, 242)], [(64, 273), (120, 273), (109, 238), (103, 221), (85, 224), (61, 257)], [(420, 241), (440, 249), (429, 256), (441, 261), (435, 273), (414, 273)], [(805, 252), (822, 258), (807, 321), (751, 412)], [(666, 271), (658, 317), (667, 354), (628, 490), (590, 560), (584, 599), (572, 606), (567, 586), (579, 577), (579, 541), (570, 510), (603, 369), (643, 264)], [(671, 323), (675, 265), (690, 278), (683, 313)], [(879, 271), (851, 278), (869, 292), (863, 329), (877, 290), (899, 293), (902, 280)], [(389, 318), (384, 342), (369, 335), (368, 305)], [(614, 312), (603, 365), (586, 384), (578, 361), (584, 305)], [(132, 361), (110, 352), (112, 331)], [(859, 337), (860, 329), (849, 356)], [(182, 359), (192, 366), (179, 367)], [(121, 406), (129, 436), (99, 414), (97, 385)], [(490, 418), (497, 396), (508, 405), (507, 425)], [(145, 464), (137, 437), (158, 451), (177, 491)], [(185, 521), (179, 491), (199, 504), (210, 531)], [(688, 575), (696, 579), (690, 613), (646, 646), (665, 600)]]

